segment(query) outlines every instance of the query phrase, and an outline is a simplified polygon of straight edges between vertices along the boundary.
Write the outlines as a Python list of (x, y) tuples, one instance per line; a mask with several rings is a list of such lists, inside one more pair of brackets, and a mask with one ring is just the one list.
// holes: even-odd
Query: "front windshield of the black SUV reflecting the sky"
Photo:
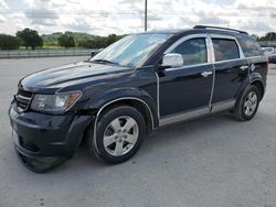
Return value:
[(91, 62), (114, 63), (123, 66), (140, 66), (171, 34), (128, 35), (92, 57)]

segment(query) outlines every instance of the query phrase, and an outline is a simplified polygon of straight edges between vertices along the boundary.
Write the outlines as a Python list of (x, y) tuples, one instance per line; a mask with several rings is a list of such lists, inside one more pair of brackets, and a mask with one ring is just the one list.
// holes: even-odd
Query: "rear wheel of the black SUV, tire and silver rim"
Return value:
[(236, 103), (234, 117), (240, 121), (250, 121), (256, 115), (261, 100), (261, 92), (254, 85), (248, 86)]

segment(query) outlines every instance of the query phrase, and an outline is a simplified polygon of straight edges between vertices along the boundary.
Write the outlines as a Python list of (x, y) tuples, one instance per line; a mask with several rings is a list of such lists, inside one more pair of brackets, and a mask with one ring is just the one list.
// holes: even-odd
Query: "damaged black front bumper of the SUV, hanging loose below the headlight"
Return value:
[(18, 153), (30, 159), (71, 159), (94, 116), (53, 116), (9, 110), (12, 139)]

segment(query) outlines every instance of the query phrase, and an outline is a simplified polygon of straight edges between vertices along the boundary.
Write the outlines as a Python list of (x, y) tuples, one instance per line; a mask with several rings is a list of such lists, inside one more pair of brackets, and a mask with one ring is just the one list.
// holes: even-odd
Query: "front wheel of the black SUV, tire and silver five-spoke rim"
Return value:
[(142, 115), (130, 106), (105, 111), (96, 124), (96, 133), (89, 130), (88, 150), (99, 160), (112, 164), (134, 156), (146, 135)]

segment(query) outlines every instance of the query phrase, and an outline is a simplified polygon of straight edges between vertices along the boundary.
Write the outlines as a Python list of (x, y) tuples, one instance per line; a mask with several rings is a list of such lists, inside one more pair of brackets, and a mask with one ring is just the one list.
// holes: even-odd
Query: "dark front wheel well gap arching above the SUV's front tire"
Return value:
[(110, 105), (106, 106), (103, 109), (103, 111), (100, 111), (100, 115), (104, 111), (110, 110), (112, 108), (123, 106), (123, 105), (136, 108), (142, 115), (145, 119), (147, 133), (150, 133), (152, 131), (155, 123), (153, 123), (152, 113), (151, 111), (149, 111), (150, 109), (148, 108), (148, 106), (146, 106), (146, 103), (136, 99), (121, 99), (121, 100), (114, 101)]

